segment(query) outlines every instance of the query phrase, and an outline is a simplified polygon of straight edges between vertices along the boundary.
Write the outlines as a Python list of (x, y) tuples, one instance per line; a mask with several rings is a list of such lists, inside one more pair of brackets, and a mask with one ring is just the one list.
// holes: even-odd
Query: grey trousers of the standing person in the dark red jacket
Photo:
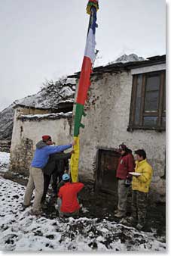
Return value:
[(125, 180), (118, 180), (118, 211), (127, 213), (127, 195), (129, 187), (125, 186)]

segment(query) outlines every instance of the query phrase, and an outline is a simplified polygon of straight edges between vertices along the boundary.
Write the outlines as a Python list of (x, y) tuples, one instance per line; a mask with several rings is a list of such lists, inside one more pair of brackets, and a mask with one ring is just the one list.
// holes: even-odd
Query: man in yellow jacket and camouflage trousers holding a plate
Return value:
[(132, 214), (130, 221), (137, 220), (136, 229), (141, 230), (145, 226), (145, 215), (148, 203), (148, 191), (151, 184), (153, 169), (146, 159), (144, 149), (138, 149), (136, 153), (136, 168), (132, 181)]

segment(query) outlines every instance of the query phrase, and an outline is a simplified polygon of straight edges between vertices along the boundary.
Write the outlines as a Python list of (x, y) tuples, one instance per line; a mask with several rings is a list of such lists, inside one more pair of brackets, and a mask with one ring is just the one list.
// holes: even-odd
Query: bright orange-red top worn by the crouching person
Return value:
[(58, 196), (62, 198), (60, 211), (72, 213), (79, 210), (77, 194), (84, 187), (83, 183), (66, 183), (60, 188)]

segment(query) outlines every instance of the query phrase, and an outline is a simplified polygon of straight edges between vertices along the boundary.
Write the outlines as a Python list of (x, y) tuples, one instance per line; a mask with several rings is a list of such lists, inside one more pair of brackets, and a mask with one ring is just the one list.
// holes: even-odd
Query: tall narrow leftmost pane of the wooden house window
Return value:
[(142, 75), (139, 75), (137, 77), (137, 85), (136, 85), (135, 124), (139, 124), (140, 107), (141, 107), (141, 92), (142, 92)]

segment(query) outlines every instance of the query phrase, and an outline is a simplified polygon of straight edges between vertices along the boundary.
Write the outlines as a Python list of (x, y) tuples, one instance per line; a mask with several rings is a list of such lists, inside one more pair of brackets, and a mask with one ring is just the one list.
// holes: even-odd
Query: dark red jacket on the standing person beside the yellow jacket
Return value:
[(127, 154), (119, 158), (118, 169), (116, 171), (117, 178), (126, 180), (127, 177), (131, 177), (129, 172), (133, 172), (135, 167), (134, 159), (132, 154)]

